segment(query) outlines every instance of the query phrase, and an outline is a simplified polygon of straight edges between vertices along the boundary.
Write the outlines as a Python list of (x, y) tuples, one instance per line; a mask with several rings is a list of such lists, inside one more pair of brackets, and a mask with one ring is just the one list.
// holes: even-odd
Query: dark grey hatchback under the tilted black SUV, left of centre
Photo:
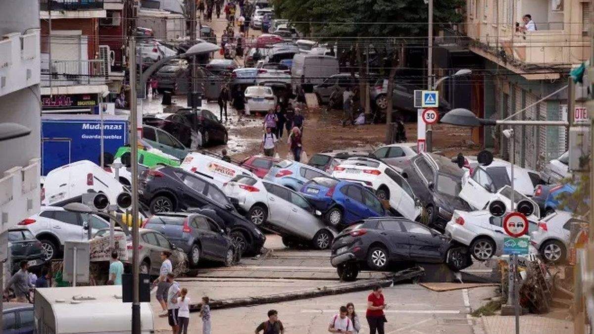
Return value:
[(161, 232), (188, 254), (191, 267), (202, 259), (233, 264), (235, 247), (228, 231), (213, 219), (199, 213), (159, 213), (147, 220), (144, 228)]

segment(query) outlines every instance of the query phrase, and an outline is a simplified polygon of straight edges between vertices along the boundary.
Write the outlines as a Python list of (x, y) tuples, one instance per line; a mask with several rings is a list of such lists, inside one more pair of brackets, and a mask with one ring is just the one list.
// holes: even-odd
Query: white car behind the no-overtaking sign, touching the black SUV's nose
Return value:
[[(529, 216), (528, 222), (529, 235), (538, 228), (538, 218)], [(479, 261), (503, 254), (503, 242), (507, 237), (503, 229), (503, 217), (492, 216), (488, 210), (454, 210), (451, 220), (445, 226), (445, 234), (469, 246), (470, 254)]]

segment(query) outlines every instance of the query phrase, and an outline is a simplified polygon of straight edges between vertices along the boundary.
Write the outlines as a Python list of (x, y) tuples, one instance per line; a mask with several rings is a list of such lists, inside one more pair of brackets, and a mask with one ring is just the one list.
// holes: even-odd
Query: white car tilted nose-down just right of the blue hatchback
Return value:
[(405, 178), (391, 166), (368, 157), (350, 157), (334, 167), (332, 176), (357, 182), (372, 188), (380, 200), (405, 218), (415, 220), (421, 215), (421, 204)]

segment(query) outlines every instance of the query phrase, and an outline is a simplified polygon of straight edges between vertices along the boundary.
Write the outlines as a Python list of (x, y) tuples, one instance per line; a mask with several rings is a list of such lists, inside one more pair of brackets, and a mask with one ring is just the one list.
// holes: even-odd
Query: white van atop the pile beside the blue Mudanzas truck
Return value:
[(86, 193), (104, 193), (110, 204), (116, 203), (119, 194), (127, 192), (110, 172), (89, 160), (80, 160), (53, 169), (43, 183), (42, 205), (65, 204), (80, 201)]

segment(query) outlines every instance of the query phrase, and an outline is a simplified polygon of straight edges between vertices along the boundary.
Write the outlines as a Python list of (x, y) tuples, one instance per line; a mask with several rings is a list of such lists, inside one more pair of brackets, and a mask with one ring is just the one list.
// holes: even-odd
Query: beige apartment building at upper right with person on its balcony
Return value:
[[(484, 61), (473, 111), (503, 119), (529, 107), (516, 119), (567, 118), (567, 89), (560, 89), (571, 68), (589, 59), (589, 13), (589, 0), (467, 0), (469, 49)], [(536, 30), (523, 29), (526, 14)], [(584, 89), (578, 87), (577, 99), (583, 96)], [(508, 156), (511, 143), (493, 130), (482, 130), (485, 146)], [(561, 127), (517, 127), (516, 134), (516, 161), (527, 168), (538, 169), (567, 145)]]

